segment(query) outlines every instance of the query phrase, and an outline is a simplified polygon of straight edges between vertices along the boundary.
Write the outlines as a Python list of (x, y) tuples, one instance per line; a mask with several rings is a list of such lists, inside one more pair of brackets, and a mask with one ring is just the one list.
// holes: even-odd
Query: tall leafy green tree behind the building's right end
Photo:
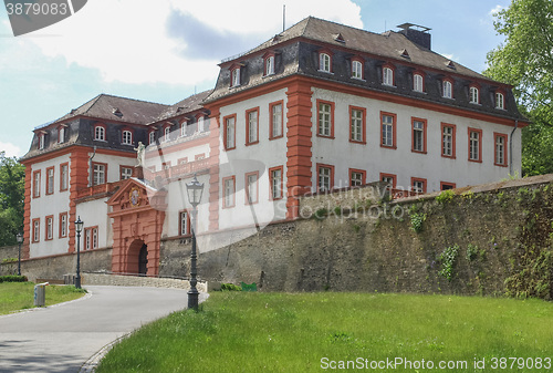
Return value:
[(522, 132), (522, 173), (553, 173), (553, 2), (512, 0), (495, 14), (505, 43), (488, 53), (484, 75), (512, 84), (531, 125)]

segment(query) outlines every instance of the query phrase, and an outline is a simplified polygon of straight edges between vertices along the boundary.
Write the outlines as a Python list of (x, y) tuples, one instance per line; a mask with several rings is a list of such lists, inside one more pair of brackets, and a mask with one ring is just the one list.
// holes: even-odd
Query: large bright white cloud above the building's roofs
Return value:
[[(187, 58), (186, 38), (169, 35), (167, 20), (176, 11), (190, 14), (216, 31), (259, 34), (260, 40), (282, 29), (279, 2), (95, 0), (73, 17), (29, 38), (20, 37), (18, 42), (36, 44), (44, 55), (63, 56), (67, 64), (96, 69), (106, 82), (192, 85), (215, 80), (219, 60)], [(307, 15), (363, 27), (361, 8), (351, 0), (286, 2), (286, 27)], [(246, 45), (246, 50), (254, 46)], [(240, 52), (243, 50), (236, 51)]]

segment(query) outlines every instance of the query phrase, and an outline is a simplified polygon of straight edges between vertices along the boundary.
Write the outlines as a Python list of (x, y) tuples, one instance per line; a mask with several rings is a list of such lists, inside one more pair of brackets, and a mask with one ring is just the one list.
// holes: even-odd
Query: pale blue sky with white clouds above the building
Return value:
[(13, 37), (0, 8), (0, 151), (22, 156), (35, 126), (100, 93), (174, 104), (211, 89), (221, 59), (307, 15), (373, 32), (431, 28), (432, 50), (477, 72), (503, 39), (493, 11), (509, 0), (88, 0), (73, 17)]

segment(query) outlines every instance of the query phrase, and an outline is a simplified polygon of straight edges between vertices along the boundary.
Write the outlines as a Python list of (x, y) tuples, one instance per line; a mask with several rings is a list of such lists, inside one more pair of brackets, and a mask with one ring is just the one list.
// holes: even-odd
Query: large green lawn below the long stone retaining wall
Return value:
[[(430, 371), (415, 369), (422, 359), (435, 371), (463, 373), (546, 372), (553, 364), (519, 369), (522, 360), (514, 367), (508, 360), (510, 369), (492, 370), (493, 358), (534, 364), (553, 358), (553, 304), (541, 300), (216, 292), (200, 307), (145, 325), (117, 344), (97, 373), (323, 372), (341, 361), (352, 361), (351, 371)], [(404, 361), (395, 369), (371, 369), (396, 358)], [(474, 369), (474, 359), (486, 359), (486, 369)], [(467, 367), (438, 370), (441, 361)]]

